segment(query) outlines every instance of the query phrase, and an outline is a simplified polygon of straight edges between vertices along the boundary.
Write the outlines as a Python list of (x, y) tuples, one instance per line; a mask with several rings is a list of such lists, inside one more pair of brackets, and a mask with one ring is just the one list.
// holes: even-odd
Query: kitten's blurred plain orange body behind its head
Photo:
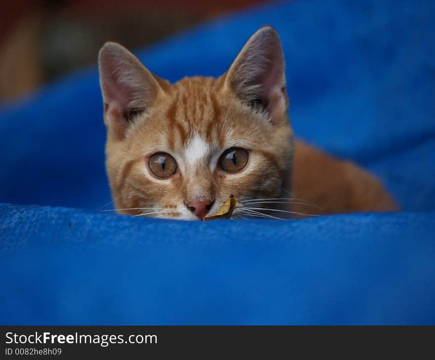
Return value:
[(303, 141), (295, 142), (293, 195), (316, 205), (292, 206), (292, 211), (302, 214), (385, 212), (397, 208), (373, 175)]

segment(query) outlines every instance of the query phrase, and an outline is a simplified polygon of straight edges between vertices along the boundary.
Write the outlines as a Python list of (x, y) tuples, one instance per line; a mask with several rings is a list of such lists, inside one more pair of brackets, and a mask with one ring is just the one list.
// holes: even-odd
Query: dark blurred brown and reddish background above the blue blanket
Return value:
[(96, 63), (107, 40), (134, 49), (266, 0), (14, 0), (0, 12), (0, 103)]

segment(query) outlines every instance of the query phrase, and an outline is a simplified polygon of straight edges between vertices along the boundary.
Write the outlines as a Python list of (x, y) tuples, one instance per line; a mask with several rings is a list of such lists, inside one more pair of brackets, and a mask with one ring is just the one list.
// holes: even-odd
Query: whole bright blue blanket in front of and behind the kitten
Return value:
[(101, 213), (91, 68), (0, 107), (1, 324), (435, 324), (435, 3), (272, 3), (136, 54), (171, 81), (217, 76), (265, 24), (282, 37), (296, 134), (377, 174), (401, 211)]

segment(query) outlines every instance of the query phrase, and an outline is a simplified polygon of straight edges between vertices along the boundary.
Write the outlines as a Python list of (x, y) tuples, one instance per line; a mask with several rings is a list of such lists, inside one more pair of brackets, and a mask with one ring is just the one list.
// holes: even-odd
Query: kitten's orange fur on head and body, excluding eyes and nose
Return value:
[[(99, 68), (106, 169), (121, 214), (193, 220), (189, 202), (209, 199), (214, 214), (230, 194), (239, 199), (235, 218), (395, 208), (379, 181), (361, 168), (302, 142), (294, 145), (281, 45), (269, 27), (251, 37), (218, 79), (170, 84), (114, 43), (100, 51)], [(232, 147), (249, 153), (238, 173), (218, 165)], [(147, 165), (157, 152), (177, 163), (167, 179)], [(304, 201), (283, 200), (292, 192)]]

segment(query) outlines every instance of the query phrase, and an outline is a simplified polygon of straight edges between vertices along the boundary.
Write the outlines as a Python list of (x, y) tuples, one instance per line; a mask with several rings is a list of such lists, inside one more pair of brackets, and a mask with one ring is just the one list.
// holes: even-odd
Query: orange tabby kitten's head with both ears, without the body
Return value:
[(239, 200), (234, 218), (287, 209), (252, 200), (287, 198), (291, 186), (293, 137), (275, 30), (257, 31), (218, 79), (170, 84), (113, 42), (100, 50), (99, 71), (119, 213), (203, 219), (231, 194)]

